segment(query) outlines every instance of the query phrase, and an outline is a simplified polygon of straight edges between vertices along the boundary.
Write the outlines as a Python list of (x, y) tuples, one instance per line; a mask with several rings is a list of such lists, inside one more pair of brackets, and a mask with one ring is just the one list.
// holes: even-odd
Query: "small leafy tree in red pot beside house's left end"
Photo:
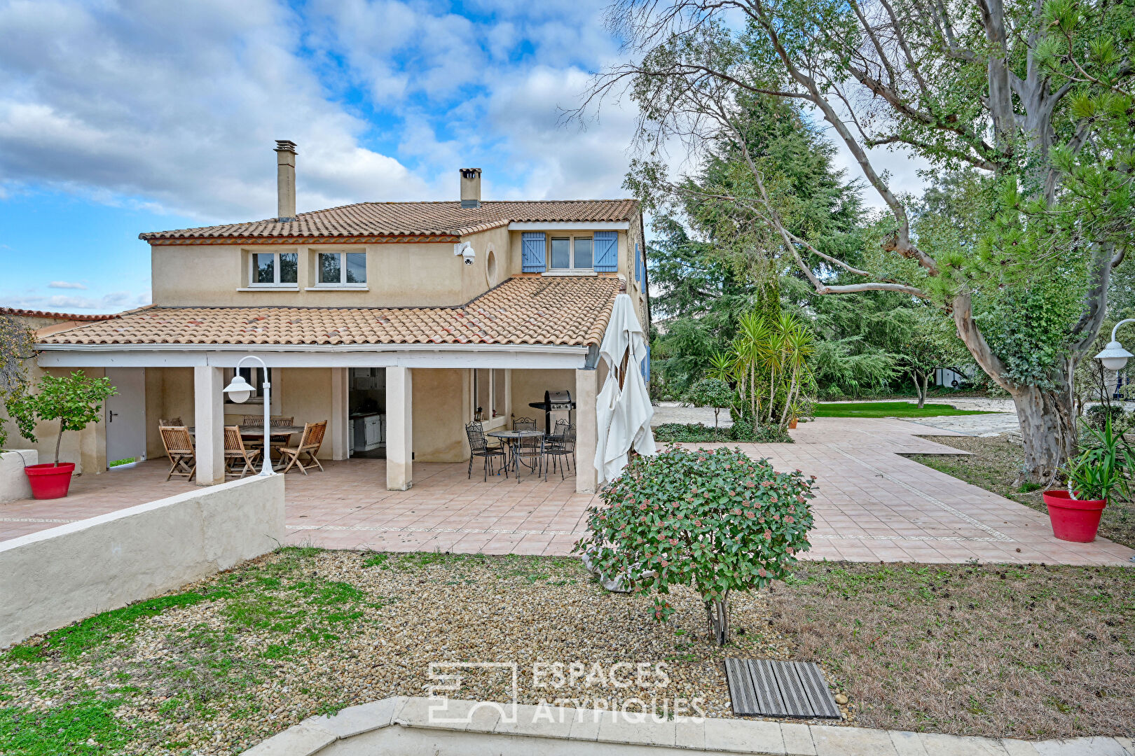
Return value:
[(32, 495), (36, 499), (59, 499), (67, 495), (70, 487), (74, 462), (59, 461), (59, 447), (64, 433), (82, 431), (96, 423), (102, 415), (102, 402), (115, 394), (110, 379), (89, 377), (83, 371), (57, 377), (44, 375), (34, 393), (22, 390), (8, 397), (8, 415), (15, 421), (19, 434), (35, 443), (35, 425), (41, 422), (58, 422), (56, 453), (50, 462), (28, 465), (24, 468)]

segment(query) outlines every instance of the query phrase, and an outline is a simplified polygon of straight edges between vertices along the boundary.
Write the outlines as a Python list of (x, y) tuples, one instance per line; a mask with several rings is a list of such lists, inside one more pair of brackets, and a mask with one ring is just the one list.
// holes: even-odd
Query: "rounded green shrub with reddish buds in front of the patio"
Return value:
[(709, 637), (729, 640), (729, 596), (783, 579), (808, 549), (815, 476), (777, 473), (740, 449), (667, 448), (636, 457), (588, 510), (590, 534), (575, 551), (634, 593), (653, 593), (655, 619), (673, 608), (670, 587), (692, 586)]

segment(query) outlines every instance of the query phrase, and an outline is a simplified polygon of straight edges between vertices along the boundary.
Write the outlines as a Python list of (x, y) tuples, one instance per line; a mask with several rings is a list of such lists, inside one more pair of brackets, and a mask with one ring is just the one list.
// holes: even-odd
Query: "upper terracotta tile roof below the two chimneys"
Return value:
[(361, 202), (300, 213), (286, 223), (269, 218), (251, 223), (152, 231), (140, 239), (270, 239), (373, 236), (461, 236), (508, 222), (629, 221), (638, 213), (634, 199), (539, 199), (482, 202)]

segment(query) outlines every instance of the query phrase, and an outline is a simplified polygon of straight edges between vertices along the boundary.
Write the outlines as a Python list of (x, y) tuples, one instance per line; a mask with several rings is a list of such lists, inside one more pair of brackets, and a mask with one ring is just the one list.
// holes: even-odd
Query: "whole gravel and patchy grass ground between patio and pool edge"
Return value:
[[(574, 559), (285, 549), (0, 654), (0, 753), (237, 754), (312, 714), (426, 695), (443, 661), (515, 662), (521, 703), (699, 699), (730, 716), (724, 656), (817, 661), (865, 727), (1130, 736), (1133, 576), (809, 563), (735, 596), (720, 649), (691, 592), (658, 625), (648, 598), (604, 592)], [(540, 688), (537, 662), (588, 676)], [(613, 683), (619, 662), (646, 663), (645, 686)], [(451, 695), (510, 689), (470, 673)]]

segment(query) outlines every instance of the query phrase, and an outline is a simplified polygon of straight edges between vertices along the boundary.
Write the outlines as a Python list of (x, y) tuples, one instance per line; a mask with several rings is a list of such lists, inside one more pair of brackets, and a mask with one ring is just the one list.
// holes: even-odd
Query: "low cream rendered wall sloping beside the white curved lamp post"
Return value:
[(0, 542), (0, 648), (228, 569), (284, 535), (275, 475)]

